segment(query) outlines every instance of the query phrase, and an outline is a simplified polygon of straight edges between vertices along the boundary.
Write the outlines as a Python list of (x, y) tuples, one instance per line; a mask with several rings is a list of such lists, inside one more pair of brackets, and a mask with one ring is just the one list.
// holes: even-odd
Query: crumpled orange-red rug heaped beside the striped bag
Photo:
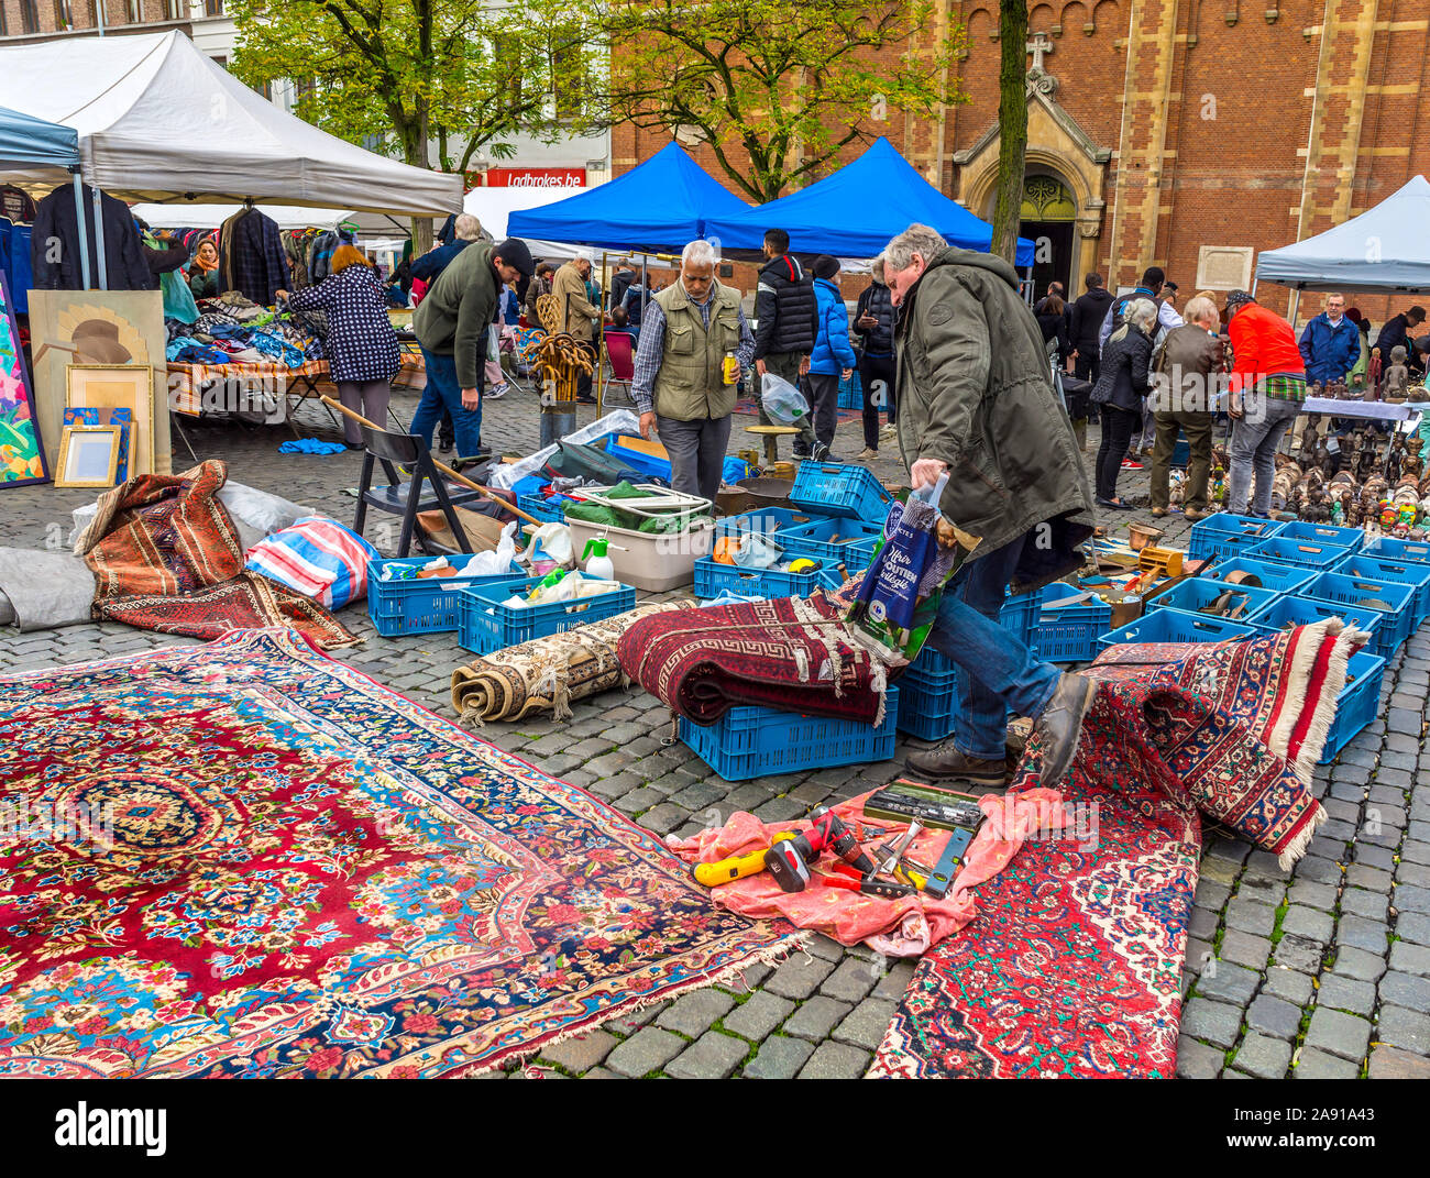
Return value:
[(212, 639), (235, 629), (292, 626), (330, 650), (359, 639), (310, 598), (246, 572), (209, 459), (183, 475), (140, 475), (99, 499), (74, 543), (94, 573), (96, 618)]

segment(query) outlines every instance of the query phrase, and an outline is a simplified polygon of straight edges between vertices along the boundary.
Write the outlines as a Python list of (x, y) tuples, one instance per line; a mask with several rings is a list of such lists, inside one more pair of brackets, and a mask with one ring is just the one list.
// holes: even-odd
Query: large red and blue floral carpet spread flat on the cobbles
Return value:
[(292, 630), (0, 688), (0, 1075), (462, 1075), (794, 945)]

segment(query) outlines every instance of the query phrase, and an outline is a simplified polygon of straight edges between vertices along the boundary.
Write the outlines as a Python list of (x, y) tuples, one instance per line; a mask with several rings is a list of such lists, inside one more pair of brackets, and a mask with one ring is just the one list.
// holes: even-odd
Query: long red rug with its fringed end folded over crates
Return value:
[[(1062, 786), (1072, 822), (974, 889), (919, 964), (879, 1076), (1171, 1076), (1204, 812), (1290, 865), (1346, 663), (1331, 619), (1220, 646), (1123, 646)], [(1038, 785), (1030, 745), (1010, 792)]]

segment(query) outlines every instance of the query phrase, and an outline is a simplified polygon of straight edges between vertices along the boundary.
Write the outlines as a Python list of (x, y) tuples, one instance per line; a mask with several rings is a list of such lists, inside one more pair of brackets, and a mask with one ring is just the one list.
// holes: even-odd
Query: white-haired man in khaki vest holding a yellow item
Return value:
[[(641, 436), (655, 429), (671, 456), (671, 486), (704, 499), (719, 490), (735, 386), (755, 355), (739, 294), (715, 280), (718, 260), (702, 240), (681, 253), (679, 282), (645, 309), (631, 382)], [(728, 353), (734, 372), (725, 370)]]

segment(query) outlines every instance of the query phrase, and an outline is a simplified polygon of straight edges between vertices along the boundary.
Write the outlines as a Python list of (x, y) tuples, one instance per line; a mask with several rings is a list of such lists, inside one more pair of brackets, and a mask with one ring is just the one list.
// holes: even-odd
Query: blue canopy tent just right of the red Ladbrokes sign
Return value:
[(715, 216), (748, 206), (701, 169), (676, 143), (639, 167), (576, 196), (522, 209), (506, 219), (513, 237), (641, 253), (679, 252), (706, 236)]

